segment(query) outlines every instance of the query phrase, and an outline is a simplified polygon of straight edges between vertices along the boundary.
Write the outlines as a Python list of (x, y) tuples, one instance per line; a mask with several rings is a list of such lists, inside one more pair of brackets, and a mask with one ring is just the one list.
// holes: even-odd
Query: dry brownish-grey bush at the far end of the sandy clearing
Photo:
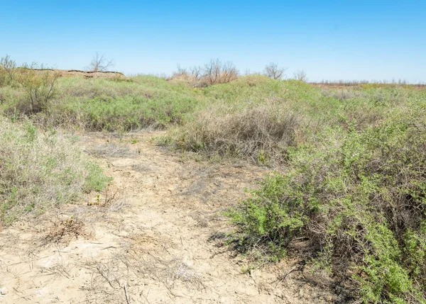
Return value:
[(295, 145), (299, 124), (297, 116), (282, 104), (242, 109), (217, 105), (178, 130), (178, 146), (210, 155), (251, 157), (261, 163), (282, 161), (286, 148)]

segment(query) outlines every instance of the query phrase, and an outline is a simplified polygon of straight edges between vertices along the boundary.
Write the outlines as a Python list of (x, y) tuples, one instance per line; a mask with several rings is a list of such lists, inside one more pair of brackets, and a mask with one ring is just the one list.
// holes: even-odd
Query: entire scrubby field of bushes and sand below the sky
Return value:
[(424, 86), (195, 82), (0, 75), (0, 301), (426, 303)]

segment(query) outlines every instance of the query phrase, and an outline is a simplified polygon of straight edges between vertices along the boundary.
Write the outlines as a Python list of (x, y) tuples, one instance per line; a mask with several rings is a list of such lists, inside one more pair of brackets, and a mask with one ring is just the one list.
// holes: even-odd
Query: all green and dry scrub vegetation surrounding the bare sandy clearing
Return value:
[(1, 77), (1, 225), (108, 184), (70, 134), (161, 129), (197, 161), (271, 171), (226, 210), (224, 246), (253, 267), (301, 257), (364, 303), (426, 303), (422, 86)]

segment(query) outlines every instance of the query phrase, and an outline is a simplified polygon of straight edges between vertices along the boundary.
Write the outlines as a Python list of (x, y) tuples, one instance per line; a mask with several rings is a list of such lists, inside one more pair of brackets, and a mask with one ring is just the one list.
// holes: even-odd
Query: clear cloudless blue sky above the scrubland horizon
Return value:
[(126, 74), (219, 57), (312, 81), (426, 81), (426, 1), (0, 0), (0, 56), (82, 69), (97, 51)]

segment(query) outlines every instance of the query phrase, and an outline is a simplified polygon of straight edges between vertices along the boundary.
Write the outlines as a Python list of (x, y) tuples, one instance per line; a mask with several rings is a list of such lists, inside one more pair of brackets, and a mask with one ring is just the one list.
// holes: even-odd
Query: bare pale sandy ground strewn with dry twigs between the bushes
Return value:
[(82, 136), (114, 181), (0, 232), (0, 303), (340, 302), (297, 259), (247, 272), (217, 240), (232, 229), (222, 211), (266, 169), (195, 162), (158, 135)]

